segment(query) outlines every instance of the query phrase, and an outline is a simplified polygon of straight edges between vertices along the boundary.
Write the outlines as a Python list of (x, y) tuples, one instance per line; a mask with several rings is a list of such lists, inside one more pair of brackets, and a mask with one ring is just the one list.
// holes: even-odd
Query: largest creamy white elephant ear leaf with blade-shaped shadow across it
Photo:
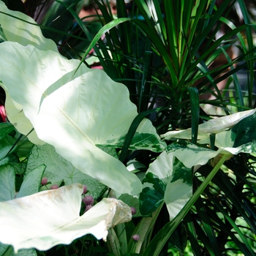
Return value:
[[(40, 140), (53, 145), (72, 165), (102, 184), (138, 195), (142, 185), (137, 176), (97, 147), (110, 140), (110, 146), (115, 146), (138, 115), (126, 86), (114, 82), (102, 70), (85, 65), (74, 75), (80, 61), (32, 45), (24, 48), (15, 42), (3, 42), (0, 58), (4, 87), (23, 107)], [(154, 144), (162, 144), (148, 119), (137, 131), (152, 135)], [(151, 148), (154, 151), (155, 145), (148, 143), (145, 147)]]

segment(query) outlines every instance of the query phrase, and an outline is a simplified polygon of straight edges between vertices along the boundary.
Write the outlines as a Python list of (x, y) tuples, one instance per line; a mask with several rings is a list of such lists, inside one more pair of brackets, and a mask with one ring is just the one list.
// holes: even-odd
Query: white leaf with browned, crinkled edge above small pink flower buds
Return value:
[(82, 192), (83, 185), (72, 184), (0, 202), (1, 243), (18, 252), (45, 251), (89, 233), (105, 240), (108, 228), (131, 219), (129, 206), (114, 198), (104, 198), (79, 216)]

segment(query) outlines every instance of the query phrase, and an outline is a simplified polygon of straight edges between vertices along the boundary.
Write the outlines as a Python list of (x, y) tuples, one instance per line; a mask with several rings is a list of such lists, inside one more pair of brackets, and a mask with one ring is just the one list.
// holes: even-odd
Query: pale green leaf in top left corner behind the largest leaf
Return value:
[(8, 41), (58, 52), (55, 42), (42, 35), (40, 27), (32, 18), (22, 12), (8, 10), (3, 1), (0, 1), (0, 20), (1, 29)]

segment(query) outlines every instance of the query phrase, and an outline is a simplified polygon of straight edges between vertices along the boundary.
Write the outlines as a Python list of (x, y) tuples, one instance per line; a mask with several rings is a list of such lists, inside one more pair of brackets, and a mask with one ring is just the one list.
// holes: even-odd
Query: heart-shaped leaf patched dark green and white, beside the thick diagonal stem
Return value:
[(164, 151), (148, 168), (143, 185), (141, 213), (155, 211), (164, 200), (170, 219), (173, 219), (192, 196), (192, 171), (173, 153)]

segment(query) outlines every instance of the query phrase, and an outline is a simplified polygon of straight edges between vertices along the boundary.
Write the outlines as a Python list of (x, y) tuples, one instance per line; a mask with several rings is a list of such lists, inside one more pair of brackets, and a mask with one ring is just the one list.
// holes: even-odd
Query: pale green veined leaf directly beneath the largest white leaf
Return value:
[(87, 186), (94, 198), (99, 197), (102, 190), (105, 189), (103, 184), (75, 168), (69, 161), (56, 153), (53, 146), (48, 144), (34, 146), (31, 149), (26, 173), (33, 173), (35, 167), (43, 164), (46, 165), (44, 177), (48, 178), (48, 182), (51, 184), (59, 184), (61, 181), (64, 181), (65, 185), (80, 183)]

